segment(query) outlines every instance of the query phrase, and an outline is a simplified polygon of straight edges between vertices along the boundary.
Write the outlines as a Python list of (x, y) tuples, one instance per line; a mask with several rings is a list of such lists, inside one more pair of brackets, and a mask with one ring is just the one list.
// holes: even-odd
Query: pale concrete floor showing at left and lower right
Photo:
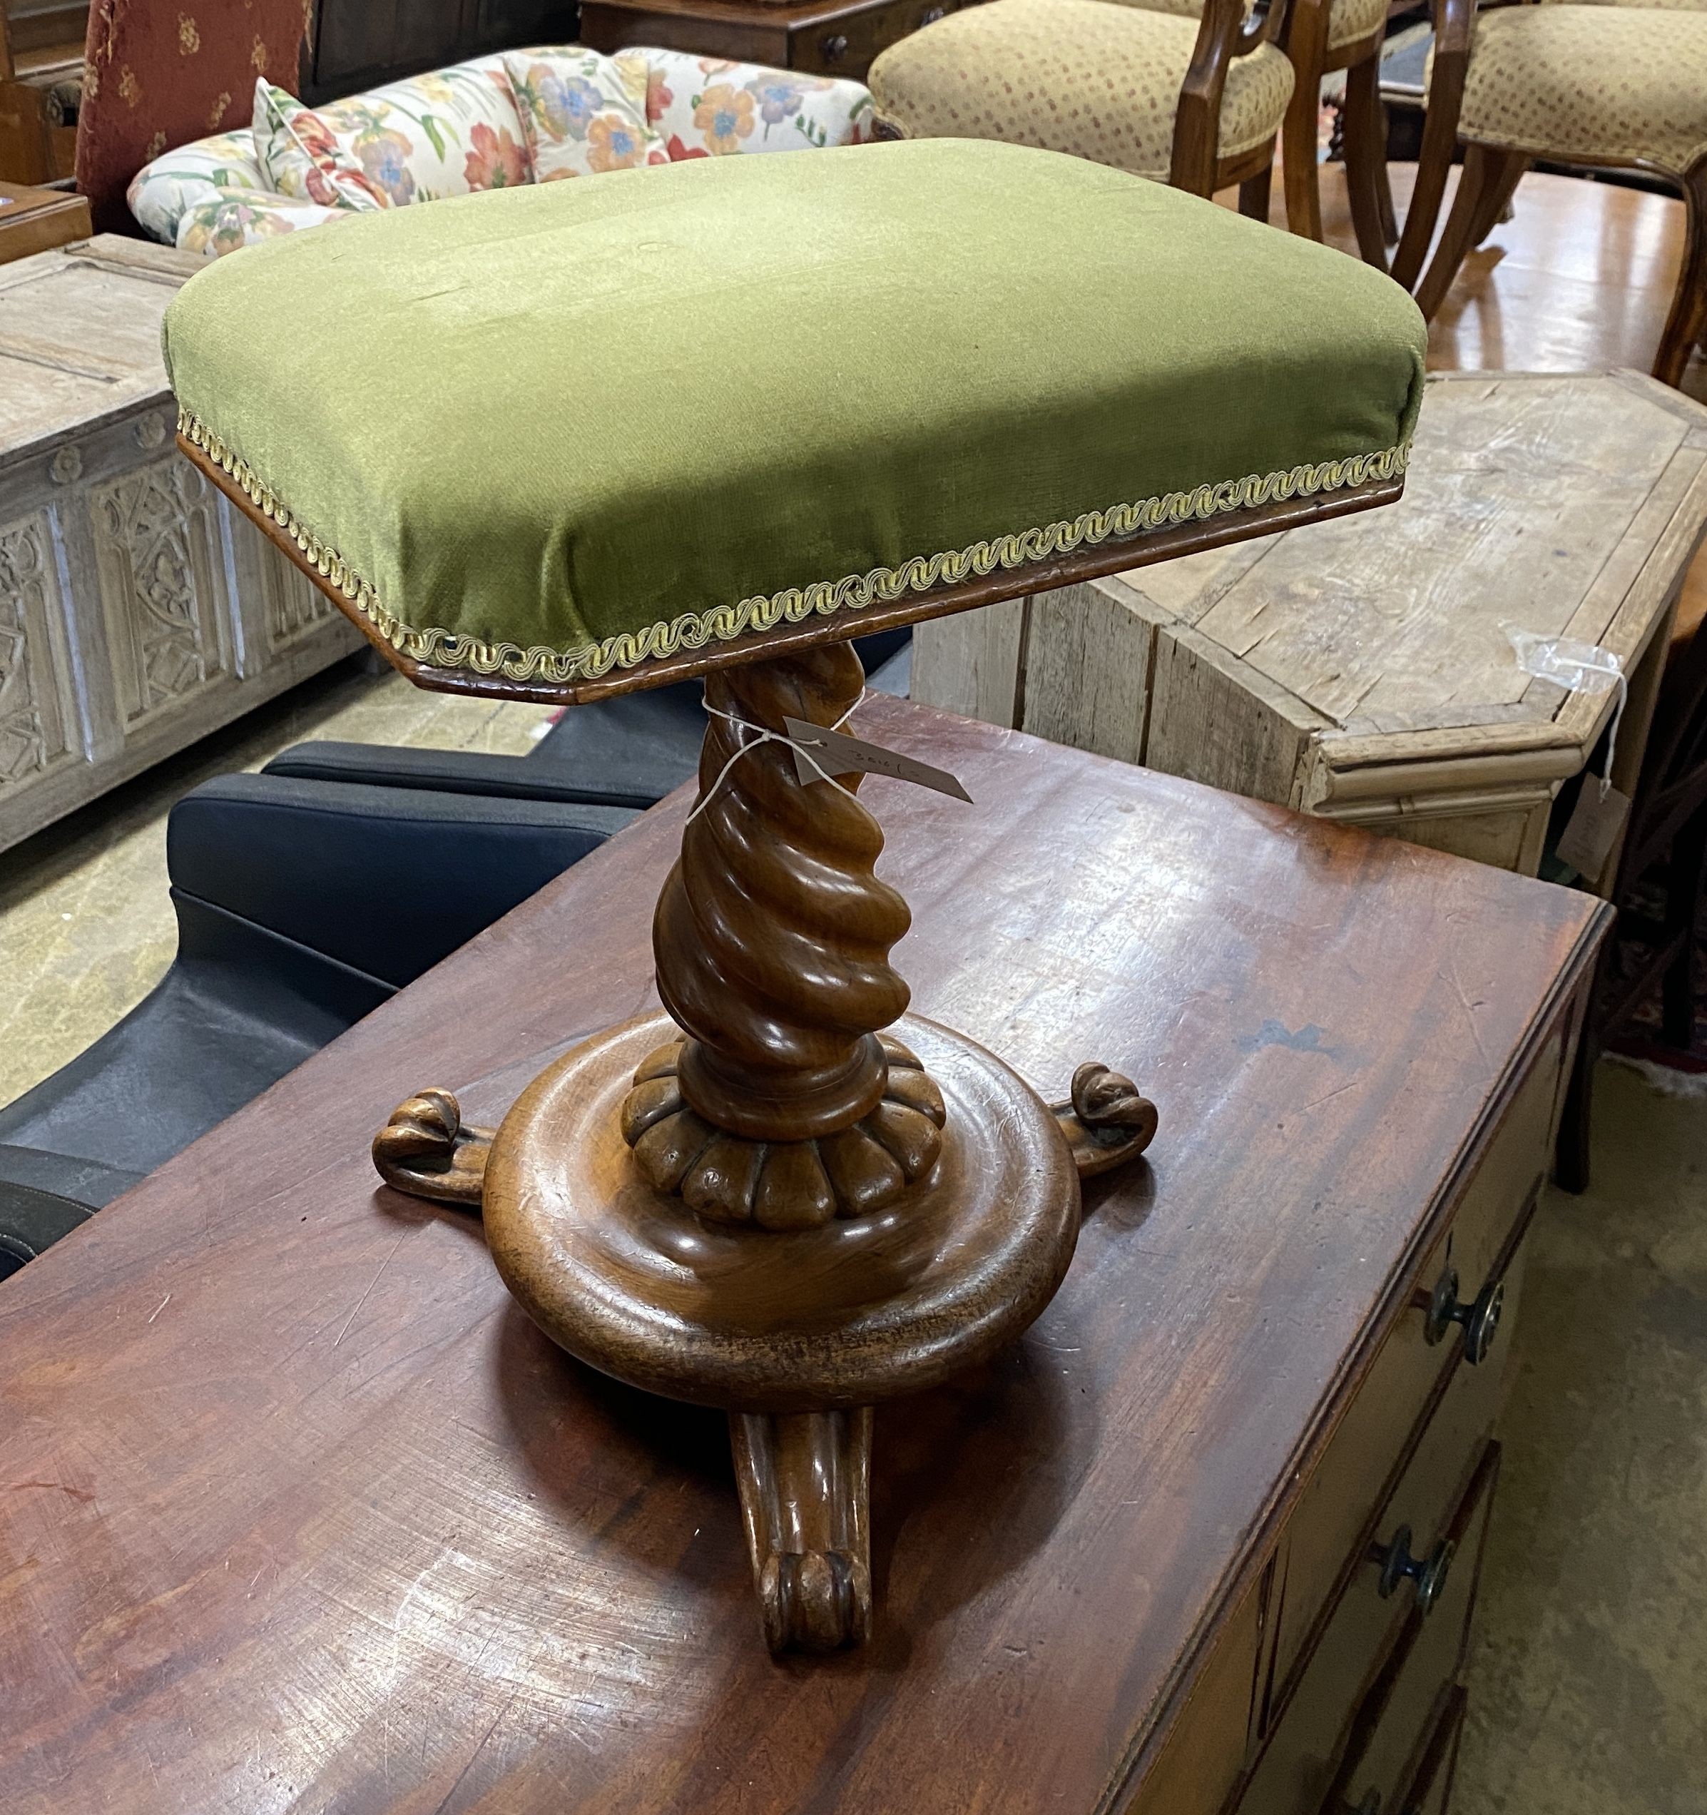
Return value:
[[(305, 737), (522, 753), (546, 713), (343, 666), (0, 857), (0, 1102), (172, 955), (165, 813)], [(1707, 1100), (1604, 1065), (1595, 1187), (1533, 1227), (1464, 1815), (1707, 1810)]]

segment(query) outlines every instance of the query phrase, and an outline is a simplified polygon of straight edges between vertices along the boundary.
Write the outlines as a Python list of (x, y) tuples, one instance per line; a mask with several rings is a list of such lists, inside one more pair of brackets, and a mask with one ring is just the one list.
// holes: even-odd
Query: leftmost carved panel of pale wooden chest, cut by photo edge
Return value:
[(0, 526), (0, 799), (73, 755), (45, 517)]

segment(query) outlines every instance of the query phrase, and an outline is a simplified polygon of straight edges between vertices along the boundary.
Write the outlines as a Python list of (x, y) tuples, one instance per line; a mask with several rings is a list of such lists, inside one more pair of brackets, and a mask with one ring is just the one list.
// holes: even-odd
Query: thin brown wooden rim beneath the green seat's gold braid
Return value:
[(1130, 568), (1152, 566), (1156, 561), (1172, 561), (1177, 555), (1195, 554), (1201, 548), (1219, 548), (1224, 543), (1243, 543), (1253, 535), (1270, 535), (1275, 530), (1297, 528), (1304, 523), (1326, 523), (1357, 510), (1373, 510), (1379, 505), (1391, 505), (1404, 495), (1404, 481), (1390, 479), (1377, 485), (1348, 486), (1344, 492), (1333, 492), (1328, 497), (1295, 497), (1283, 505), (1266, 505), (1261, 510), (1212, 517), (1208, 523), (1183, 523), (1177, 528), (1152, 530), (1148, 535), (1128, 541), (1110, 541), (1097, 548), (1081, 548), (1072, 555), (1038, 561), (1032, 566), (1012, 572), (990, 574), (985, 579), (969, 581), (965, 586), (940, 586), (898, 599), (893, 604), (871, 604), (863, 610), (838, 612), (827, 619), (807, 619), (804, 624), (789, 624), (751, 637), (736, 637), (733, 643), (715, 644), (713, 648), (660, 657), (642, 662), (639, 668), (611, 672), (599, 681), (550, 684), (504, 681), (501, 675), (475, 675), (461, 668), (434, 668), (399, 655), (374, 624), (352, 606), (343, 592), (323, 574), (316, 572), (314, 564), (296, 546), (296, 539), (287, 535), (252, 499), (245, 497), (243, 490), (229, 472), (221, 470), (218, 461), (209, 459), (201, 448), (183, 436), (178, 436), (178, 446), (268, 541), (281, 548), (308, 575), (368, 643), (399, 673), (414, 681), (415, 686), (424, 686), (437, 693), (473, 693), (481, 699), (522, 699), (539, 704), (566, 706), (579, 706), (591, 699), (610, 699), (617, 693), (635, 693), (640, 688), (664, 686), (669, 681), (686, 681), (720, 668), (738, 668), (755, 661), (760, 653), (778, 655), (816, 648), (822, 643), (845, 643), (851, 637), (865, 637), (876, 630), (916, 624), (927, 617), (945, 617), (951, 612), (969, 612), (974, 606), (996, 604), (1001, 599), (1014, 599), (1029, 592), (1070, 586), (1079, 579), (1125, 574)]

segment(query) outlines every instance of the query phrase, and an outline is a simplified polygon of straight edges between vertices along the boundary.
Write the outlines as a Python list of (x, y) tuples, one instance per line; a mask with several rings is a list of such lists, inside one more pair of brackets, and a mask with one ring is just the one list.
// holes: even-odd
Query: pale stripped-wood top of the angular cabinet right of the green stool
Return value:
[(1431, 379), (1391, 510), (1099, 584), (1224, 652), (1333, 768), (1556, 746), (1564, 775), (1616, 693), (1533, 679), (1507, 632), (1633, 670), (1703, 525), (1700, 403), (1636, 372), (1464, 372)]

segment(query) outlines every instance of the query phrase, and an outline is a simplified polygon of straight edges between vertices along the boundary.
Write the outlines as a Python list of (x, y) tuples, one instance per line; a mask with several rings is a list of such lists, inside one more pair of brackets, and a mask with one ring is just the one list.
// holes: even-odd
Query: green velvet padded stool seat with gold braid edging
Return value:
[(989, 142), (354, 216), (165, 323), (185, 436), (403, 655), (561, 684), (1395, 476), (1362, 263)]

